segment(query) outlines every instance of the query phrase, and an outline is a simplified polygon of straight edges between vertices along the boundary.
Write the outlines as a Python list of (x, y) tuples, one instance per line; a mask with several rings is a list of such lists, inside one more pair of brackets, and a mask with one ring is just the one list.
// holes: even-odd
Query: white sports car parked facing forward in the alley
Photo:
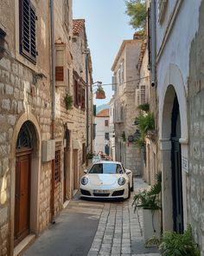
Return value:
[(98, 161), (80, 179), (80, 196), (86, 198), (130, 198), (131, 170), (118, 161)]

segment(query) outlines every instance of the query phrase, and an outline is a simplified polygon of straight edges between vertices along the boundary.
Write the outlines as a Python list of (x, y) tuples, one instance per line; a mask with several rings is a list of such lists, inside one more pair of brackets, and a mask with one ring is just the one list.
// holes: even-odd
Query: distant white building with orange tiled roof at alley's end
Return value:
[(94, 117), (96, 125), (96, 136), (94, 140), (94, 151), (110, 154), (110, 118), (109, 108), (105, 108)]

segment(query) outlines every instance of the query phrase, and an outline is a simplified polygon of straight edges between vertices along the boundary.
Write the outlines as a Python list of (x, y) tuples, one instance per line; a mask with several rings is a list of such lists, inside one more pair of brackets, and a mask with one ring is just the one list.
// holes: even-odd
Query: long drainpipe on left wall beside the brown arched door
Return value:
[[(50, 0), (50, 32), (51, 32), (51, 88), (52, 88), (52, 140), (55, 140), (55, 45), (54, 45), (54, 0)], [(51, 184), (51, 223), (55, 223), (54, 220), (54, 170), (55, 160), (52, 160), (52, 184)]]

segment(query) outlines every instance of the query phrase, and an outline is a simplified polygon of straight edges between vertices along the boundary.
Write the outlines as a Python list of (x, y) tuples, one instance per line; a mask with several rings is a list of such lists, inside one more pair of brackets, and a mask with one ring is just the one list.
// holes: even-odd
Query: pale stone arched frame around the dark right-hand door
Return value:
[[(159, 95), (159, 141), (161, 154), (161, 170), (163, 173), (163, 231), (173, 230), (173, 199), (171, 180), (171, 115), (175, 94), (179, 102), (181, 116), (182, 159), (188, 161), (188, 109), (182, 79), (182, 73), (175, 64), (169, 64), (162, 92)], [(182, 200), (184, 229), (188, 224), (187, 214), (187, 172), (182, 168)], [(169, 216), (171, 213), (171, 216)]]

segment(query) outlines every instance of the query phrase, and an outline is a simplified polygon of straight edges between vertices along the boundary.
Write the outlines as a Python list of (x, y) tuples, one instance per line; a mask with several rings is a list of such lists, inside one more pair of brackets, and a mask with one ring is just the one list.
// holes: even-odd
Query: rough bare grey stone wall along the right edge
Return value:
[(189, 175), (188, 218), (194, 239), (204, 255), (204, 1), (200, 7), (199, 30), (191, 44), (188, 80)]

